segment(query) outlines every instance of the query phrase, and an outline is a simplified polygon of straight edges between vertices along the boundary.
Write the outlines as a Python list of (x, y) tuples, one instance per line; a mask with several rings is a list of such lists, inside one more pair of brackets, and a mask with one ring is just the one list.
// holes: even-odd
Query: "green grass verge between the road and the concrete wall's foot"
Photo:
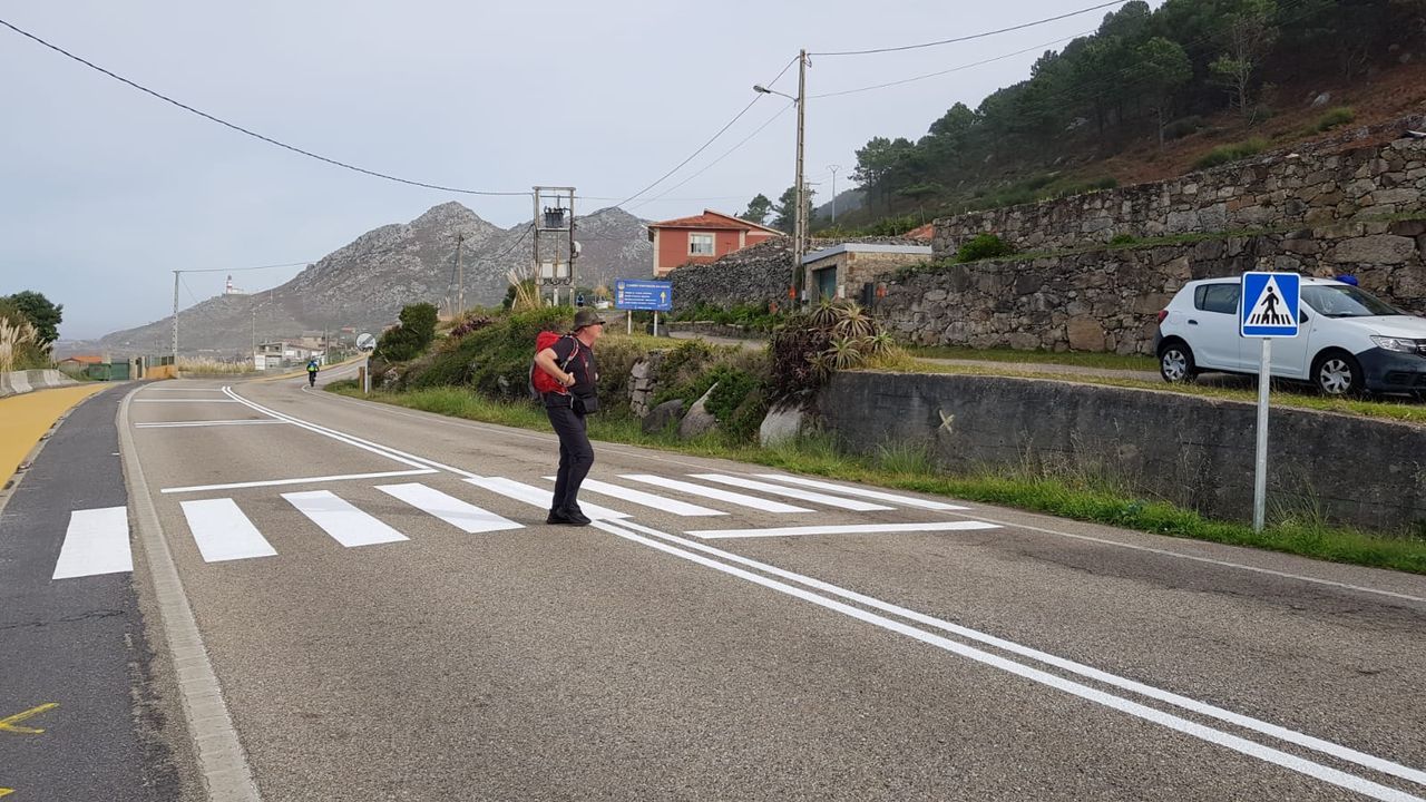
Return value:
[[(334, 382), (328, 390), (361, 398), (355, 382)], [(442, 387), (408, 392), (374, 392), (385, 404), (458, 418), (536, 431), (550, 431), (542, 410), (530, 404), (502, 404), (465, 388)], [(1372, 568), (1426, 574), (1426, 538), (1383, 537), (1322, 524), (1313, 515), (1278, 511), (1263, 532), (1251, 527), (1212, 521), (1156, 499), (1145, 499), (1112, 482), (1091, 477), (1020, 475), (1010, 471), (950, 475), (934, 469), (924, 451), (914, 447), (883, 448), (874, 455), (848, 455), (829, 437), (804, 437), (779, 448), (730, 444), (717, 437), (679, 441), (672, 434), (645, 434), (633, 418), (593, 417), (589, 434), (620, 442), (719, 457), (784, 471), (864, 482), (887, 488), (947, 495), (1045, 512), (1077, 521), (1107, 524), (1175, 538), (1243, 545)]]

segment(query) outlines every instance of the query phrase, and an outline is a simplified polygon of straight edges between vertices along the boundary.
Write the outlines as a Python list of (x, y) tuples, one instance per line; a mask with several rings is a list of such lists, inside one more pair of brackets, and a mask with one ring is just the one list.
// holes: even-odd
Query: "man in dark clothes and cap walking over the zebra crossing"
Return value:
[(575, 331), (535, 354), (535, 364), (550, 375), (560, 391), (543, 394), (545, 414), (559, 435), (559, 475), (555, 478), (555, 498), (546, 524), (589, 525), (579, 509), (579, 485), (595, 464), (595, 450), (589, 445), (585, 417), (599, 408), (595, 382), (595, 341), (605, 333), (599, 313), (582, 308), (575, 313)]

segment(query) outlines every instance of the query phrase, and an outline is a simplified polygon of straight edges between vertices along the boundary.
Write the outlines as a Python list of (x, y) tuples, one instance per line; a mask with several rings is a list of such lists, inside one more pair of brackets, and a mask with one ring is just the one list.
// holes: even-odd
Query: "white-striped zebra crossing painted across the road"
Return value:
[[(508, 477), (471, 477), (469, 498), (459, 498), (422, 482), (372, 485), (374, 489), (431, 515), (442, 524), (465, 534), (491, 534), (523, 529), (522, 524), (476, 504), (479, 497), (491, 501), (515, 501), (545, 511), (550, 505), (555, 477), (542, 477), (550, 487), (516, 481)], [(586, 479), (583, 491), (612, 499), (616, 507), (605, 507), (582, 499), (580, 507), (595, 521), (617, 522), (647, 515), (649, 509), (679, 518), (716, 518), (733, 514), (777, 515), (786, 521), (793, 515), (817, 512), (878, 512), (891, 509), (964, 511), (965, 507), (930, 501), (887, 491), (841, 485), (820, 479), (806, 479), (783, 474), (733, 475), (697, 472), (686, 477), (656, 474), (620, 474), (619, 481)], [(653, 489), (642, 489), (653, 488)], [(737, 489), (730, 489), (737, 488)], [(753, 495), (753, 494), (760, 495)], [(344, 548), (379, 544), (399, 544), (411, 538), (386, 521), (348, 498), (329, 489), (278, 494), (292, 512), (314, 524)], [(582, 495), (586, 495), (582, 492)], [(776, 497), (776, 498), (769, 498)], [(689, 501), (696, 498), (697, 502)], [(789, 504), (799, 501), (803, 505)], [(482, 501), (489, 504), (491, 501)], [(251, 504), (251, 501), (248, 502)], [(234, 498), (202, 498), (180, 502), (188, 537), (204, 562), (232, 562), (278, 557), (278, 549), (260, 531)], [(369, 507), (369, 505), (368, 505)], [(625, 511), (627, 508), (630, 511)], [(766, 528), (699, 529), (684, 534), (716, 538), (766, 538), (819, 534), (890, 534), (945, 532), (998, 528), (978, 521), (928, 521), (898, 524), (826, 524), (807, 527), (771, 525)], [(173, 537), (173, 535), (170, 535)], [(73, 579), (100, 574), (133, 571), (128, 515), (124, 507), (80, 509), (71, 514), (70, 527), (60, 549), (53, 579)]]

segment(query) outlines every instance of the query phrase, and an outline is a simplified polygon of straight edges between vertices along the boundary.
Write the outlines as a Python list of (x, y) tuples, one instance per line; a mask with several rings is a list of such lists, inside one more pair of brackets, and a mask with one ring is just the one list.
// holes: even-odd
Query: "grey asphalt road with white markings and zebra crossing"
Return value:
[(1426, 578), (609, 444), (549, 527), (552, 437), (305, 384), (118, 412), (215, 799), (1426, 796)]

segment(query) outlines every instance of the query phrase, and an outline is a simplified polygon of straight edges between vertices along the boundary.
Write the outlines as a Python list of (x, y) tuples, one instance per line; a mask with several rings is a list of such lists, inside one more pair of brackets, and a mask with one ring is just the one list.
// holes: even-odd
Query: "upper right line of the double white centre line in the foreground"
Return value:
[(1228, 711), (1228, 709), (1224, 709), (1224, 708), (1218, 708), (1218, 706), (1209, 705), (1206, 702), (1199, 702), (1196, 699), (1191, 699), (1188, 696), (1182, 696), (1179, 694), (1174, 694), (1172, 691), (1165, 691), (1162, 688), (1155, 688), (1152, 685), (1145, 685), (1145, 684), (1137, 682), (1134, 679), (1118, 676), (1115, 674), (1109, 674), (1107, 671), (1101, 671), (1098, 668), (1094, 668), (1094, 666), (1089, 666), (1089, 665), (1085, 665), (1085, 664), (1081, 664), (1081, 662), (1065, 659), (1065, 658), (1052, 655), (1050, 652), (1042, 652), (1040, 649), (1035, 649), (1035, 648), (1031, 648), (1031, 646), (1025, 646), (1025, 645), (1017, 644), (1014, 641), (1007, 641), (1004, 638), (997, 638), (995, 635), (990, 635), (990, 634), (981, 632), (978, 629), (971, 629), (970, 626), (961, 626), (960, 624), (951, 624), (950, 621), (944, 621), (941, 618), (925, 615), (924, 612), (915, 612), (914, 609), (907, 609), (904, 606), (898, 606), (898, 605), (894, 605), (894, 604), (890, 604), (890, 602), (884, 602), (881, 599), (877, 599), (877, 598), (873, 598), (873, 597), (867, 597), (867, 595), (858, 594), (856, 591), (848, 591), (846, 588), (840, 588), (840, 587), (833, 585), (830, 582), (823, 582), (821, 579), (813, 579), (811, 577), (804, 577), (804, 575), (796, 574), (793, 571), (786, 571), (786, 569), (777, 568), (774, 565), (769, 565), (766, 562), (759, 562), (756, 559), (750, 559), (747, 557), (743, 557), (743, 555), (739, 555), (739, 554), (733, 554), (730, 551), (723, 551), (723, 549), (719, 549), (719, 548), (714, 548), (714, 547), (710, 547), (710, 545), (706, 545), (706, 544), (700, 544), (697, 541), (689, 541), (689, 539), (680, 538), (677, 535), (670, 535), (667, 532), (660, 532), (659, 529), (655, 529), (655, 528), (650, 528), (650, 527), (645, 527), (645, 525), (640, 525), (640, 524), (635, 524), (633, 521), (619, 521), (619, 525), (625, 527), (625, 528), (629, 528), (629, 529), (639, 531), (639, 532), (645, 532), (647, 535), (653, 535), (656, 538), (662, 538), (665, 541), (669, 541), (672, 544), (677, 544), (680, 547), (684, 547), (684, 548), (689, 548), (689, 549), (693, 549), (693, 551), (699, 551), (699, 552), (703, 552), (703, 554), (714, 555), (714, 557), (726, 559), (729, 562), (736, 562), (739, 565), (746, 565), (749, 568), (761, 571), (764, 574), (770, 574), (770, 575), (779, 577), (781, 579), (789, 579), (791, 582), (797, 582), (800, 585), (806, 585), (809, 588), (813, 588), (813, 589), (817, 589), (817, 591), (823, 591), (826, 594), (831, 594), (834, 597), (840, 597), (840, 598), (844, 598), (847, 601), (854, 601), (857, 604), (870, 606), (873, 609), (878, 609), (881, 612), (888, 612), (891, 615), (897, 615), (900, 618), (906, 618), (906, 619), (914, 621), (917, 624), (923, 624), (923, 625), (927, 625), (927, 626), (934, 626), (937, 629), (941, 629), (941, 631), (945, 631), (945, 632), (951, 632), (951, 634), (954, 634), (957, 636), (961, 636), (961, 638), (965, 638), (968, 641), (975, 641), (975, 642), (980, 642), (980, 644), (985, 644), (988, 646), (994, 646), (997, 649), (1002, 649), (1002, 651), (1011, 652), (1014, 655), (1030, 658), (1030, 659), (1034, 659), (1037, 662), (1042, 662), (1045, 665), (1052, 665), (1052, 666), (1055, 666), (1055, 668), (1058, 668), (1061, 671), (1065, 671), (1065, 672), (1070, 672), (1070, 674), (1074, 674), (1074, 675), (1078, 675), (1078, 676), (1084, 676), (1087, 679), (1094, 679), (1097, 682), (1104, 682), (1105, 685), (1112, 685), (1112, 686), (1124, 689), (1124, 691), (1139, 694), (1142, 696), (1148, 696), (1151, 699), (1156, 699), (1159, 702), (1165, 702), (1165, 704), (1174, 705), (1176, 708), (1182, 708), (1182, 709), (1186, 709), (1186, 711), (1192, 711), (1195, 714), (1211, 716), (1211, 718), (1215, 718), (1215, 719), (1219, 719), (1219, 721), (1224, 721), (1224, 722), (1228, 722), (1228, 724), (1232, 724), (1232, 725), (1236, 725), (1236, 726), (1242, 726), (1245, 729), (1252, 729), (1252, 731), (1261, 732), (1263, 735), (1269, 735), (1272, 738), (1278, 738), (1281, 741), (1288, 741), (1289, 743), (1296, 743), (1298, 746), (1305, 746), (1308, 749), (1313, 749), (1313, 751), (1318, 751), (1318, 752), (1322, 752), (1322, 753), (1326, 753), (1326, 755), (1332, 755), (1333, 758), (1340, 758), (1343, 761), (1349, 761), (1349, 762), (1353, 762), (1353, 763), (1358, 763), (1358, 765), (1362, 765), (1362, 766), (1366, 766), (1366, 768), (1370, 768), (1370, 769), (1375, 769), (1375, 771), (1379, 771), (1379, 772), (1385, 772), (1385, 773), (1389, 773), (1389, 775), (1393, 775), (1393, 776), (1399, 776), (1402, 779), (1409, 779), (1412, 782), (1416, 782), (1416, 783), (1420, 783), (1420, 785), (1426, 785), (1426, 772), (1422, 772), (1419, 769), (1413, 769), (1410, 766), (1403, 766), (1400, 763), (1396, 763), (1396, 762), (1392, 762), (1392, 761), (1386, 761), (1386, 759), (1378, 758), (1375, 755), (1368, 755), (1365, 752), (1359, 752), (1356, 749), (1350, 749), (1348, 746), (1342, 746), (1340, 743), (1333, 743), (1330, 741), (1323, 741), (1320, 738), (1313, 738), (1310, 735), (1305, 735), (1305, 734), (1293, 731), (1293, 729), (1288, 729), (1285, 726), (1278, 726), (1275, 724), (1268, 724), (1265, 721), (1255, 719), (1252, 716), (1246, 716), (1246, 715), (1242, 715), (1242, 714), (1235, 714), (1232, 711)]

